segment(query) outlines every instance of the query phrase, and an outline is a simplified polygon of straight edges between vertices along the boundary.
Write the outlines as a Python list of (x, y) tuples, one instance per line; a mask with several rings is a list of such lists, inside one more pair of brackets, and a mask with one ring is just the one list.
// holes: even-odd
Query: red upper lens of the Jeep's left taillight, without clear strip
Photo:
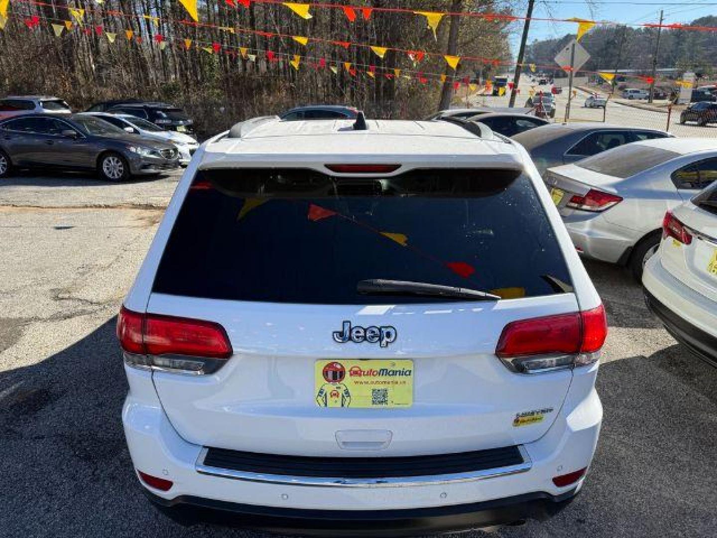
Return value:
[(227, 332), (212, 321), (141, 314), (122, 307), (117, 336), (122, 349), (134, 354), (210, 359), (228, 359), (232, 355)]

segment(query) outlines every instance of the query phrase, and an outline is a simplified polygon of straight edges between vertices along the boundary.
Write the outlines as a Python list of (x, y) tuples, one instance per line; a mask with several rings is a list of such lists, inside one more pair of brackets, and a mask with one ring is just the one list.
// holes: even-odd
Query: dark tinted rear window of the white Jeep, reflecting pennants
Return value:
[(200, 171), (153, 291), (278, 303), (459, 301), (357, 293), (382, 278), (490, 291), (571, 291), (554, 231), (516, 171), (337, 178), (306, 169)]

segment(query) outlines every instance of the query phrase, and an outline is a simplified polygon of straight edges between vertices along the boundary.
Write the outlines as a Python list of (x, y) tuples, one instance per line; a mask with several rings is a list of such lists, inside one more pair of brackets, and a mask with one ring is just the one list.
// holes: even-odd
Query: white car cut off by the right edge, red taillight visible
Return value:
[(660, 250), (642, 284), (665, 329), (717, 365), (717, 188), (665, 214)]

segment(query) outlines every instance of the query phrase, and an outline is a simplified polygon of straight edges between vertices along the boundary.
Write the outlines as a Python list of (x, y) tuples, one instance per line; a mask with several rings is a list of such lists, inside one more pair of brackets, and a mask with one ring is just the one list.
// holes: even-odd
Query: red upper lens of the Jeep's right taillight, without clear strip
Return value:
[(511, 321), (500, 334), (498, 357), (594, 353), (604, 344), (607, 320), (602, 306), (585, 312)]

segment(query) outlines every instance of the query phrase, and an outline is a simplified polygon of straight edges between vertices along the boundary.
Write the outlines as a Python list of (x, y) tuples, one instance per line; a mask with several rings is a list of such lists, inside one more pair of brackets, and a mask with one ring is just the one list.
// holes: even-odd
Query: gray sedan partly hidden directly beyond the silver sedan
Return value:
[(513, 136), (531, 154), (543, 174), (551, 166), (569, 164), (623, 144), (672, 136), (656, 129), (595, 125), (594, 123), (554, 123)]

